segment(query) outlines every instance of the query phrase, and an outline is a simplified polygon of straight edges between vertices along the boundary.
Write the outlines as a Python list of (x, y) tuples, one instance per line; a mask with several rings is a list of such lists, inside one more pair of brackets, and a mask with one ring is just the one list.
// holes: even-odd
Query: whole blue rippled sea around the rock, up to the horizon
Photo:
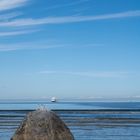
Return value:
[(10, 140), (30, 111), (53, 110), (75, 140), (140, 140), (140, 102), (0, 100), (0, 140)]

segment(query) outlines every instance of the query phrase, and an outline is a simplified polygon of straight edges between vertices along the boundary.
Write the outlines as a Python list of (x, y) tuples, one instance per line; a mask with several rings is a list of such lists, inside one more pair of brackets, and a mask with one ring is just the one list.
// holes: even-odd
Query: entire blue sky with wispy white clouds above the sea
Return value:
[(0, 0), (0, 99), (140, 99), (140, 0)]

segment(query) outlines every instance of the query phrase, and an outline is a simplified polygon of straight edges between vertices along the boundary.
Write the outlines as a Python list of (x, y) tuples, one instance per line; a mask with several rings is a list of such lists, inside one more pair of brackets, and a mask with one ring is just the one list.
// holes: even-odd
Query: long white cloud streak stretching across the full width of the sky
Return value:
[(63, 23), (74, 23), (74, 22), (86, 22), (86, 21), (98, 21), (128, 17), (139, 17), (140, 10), (127, 11), (114, 14), (104, 14), (97, 16), (64, 16), (64, 17), (47, 17), (40, 19), (18, 19), (9, 22), (0, 22), (0, 26), (35, 26), (43, 24), (63, 24)]

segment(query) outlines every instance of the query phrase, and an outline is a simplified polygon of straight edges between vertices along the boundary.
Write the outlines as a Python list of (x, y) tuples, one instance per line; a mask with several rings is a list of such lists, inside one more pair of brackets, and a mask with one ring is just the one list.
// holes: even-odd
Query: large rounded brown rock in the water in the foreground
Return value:
[(74, 140), (69, 128), (52, 111), (30, 112), (11, 140)]

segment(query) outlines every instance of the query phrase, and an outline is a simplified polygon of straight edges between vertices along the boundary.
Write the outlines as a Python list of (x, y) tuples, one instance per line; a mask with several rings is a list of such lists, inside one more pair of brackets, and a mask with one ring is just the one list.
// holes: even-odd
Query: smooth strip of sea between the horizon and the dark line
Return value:
[(0, 110), (30, 110), (44, 106), (48, 109), (140, 109), (140, 102), (0, 100)]

